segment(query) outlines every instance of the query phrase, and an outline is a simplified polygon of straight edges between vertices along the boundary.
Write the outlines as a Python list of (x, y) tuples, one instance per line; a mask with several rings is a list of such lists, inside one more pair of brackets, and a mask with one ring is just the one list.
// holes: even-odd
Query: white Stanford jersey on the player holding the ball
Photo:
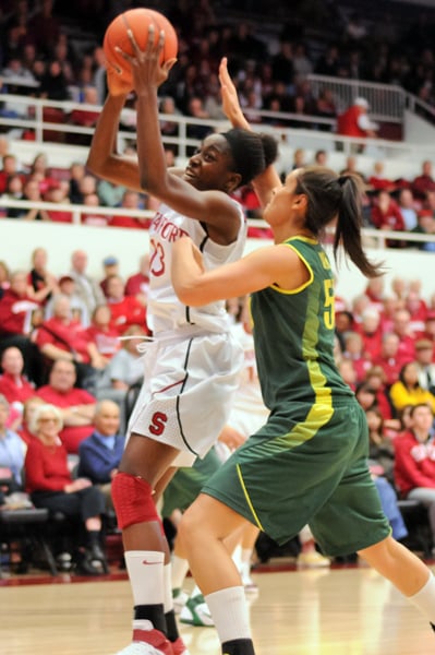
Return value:
[[(235, 202), (235, 201), (234, 201)], [(246, 222), (240, 210), (238, 238), (229, 246), (215, 243), (200, 221), (183, 216), (165, 204), (158, 207), (149, 227), (149, 296), (147, 322), (154, 335), (185, 327), (186, 332), (222, 332), (230, 329), (225, 301), (204, 307), (186, 307), (171, 284), (172, 243), (189, 236), (200, 248), (206, 269), (216, 269), (241, 258), (246, 238)]]

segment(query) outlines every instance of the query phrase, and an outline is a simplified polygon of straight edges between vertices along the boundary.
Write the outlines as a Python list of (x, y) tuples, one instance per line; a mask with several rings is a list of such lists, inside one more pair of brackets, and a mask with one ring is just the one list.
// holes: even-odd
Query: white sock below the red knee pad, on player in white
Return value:
[(134, 605), (162, 605), (165, 555), (156, 550), (128, 550), (124, 556)]

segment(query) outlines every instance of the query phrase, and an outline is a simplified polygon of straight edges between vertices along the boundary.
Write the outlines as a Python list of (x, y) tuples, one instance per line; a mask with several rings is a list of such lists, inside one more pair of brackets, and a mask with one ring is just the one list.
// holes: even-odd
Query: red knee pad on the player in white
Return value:
[(135, 523), (158, 521), (153, 500), (152, 486), (141, 477), (128, 473), (117, 473), (112, 480), (111, 493), (121, 529)]

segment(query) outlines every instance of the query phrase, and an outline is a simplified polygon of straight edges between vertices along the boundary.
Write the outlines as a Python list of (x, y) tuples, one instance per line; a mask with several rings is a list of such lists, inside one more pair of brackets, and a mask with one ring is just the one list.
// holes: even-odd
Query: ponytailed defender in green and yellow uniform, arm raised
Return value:
[[(227, 116), (245, 127), (225, 61), (220, 78)], [(380, 273), (361, 245), (361, 182), (315, 167), (292, 171), (281, 184), (268, 170), (255, 190), (274, 246), (206, 271), (198, 249), (182, 238), (172, 261), (173, 286), (186, 306), (253, 294), (258, 376), (270, 409), (179, 528), (222, 653), (254, 654), (243, 587), (222, 546), (245, 521), (278, 543), (309, 523), (325, 553), (358, 551), (434, 624), (435, 579), (390, 535), (367, 468), (365, 417), (333, 356), (333, 276), (319, 242), (325, 227), (336, 224), (335, 254), (342, 249), (368, 277)]]

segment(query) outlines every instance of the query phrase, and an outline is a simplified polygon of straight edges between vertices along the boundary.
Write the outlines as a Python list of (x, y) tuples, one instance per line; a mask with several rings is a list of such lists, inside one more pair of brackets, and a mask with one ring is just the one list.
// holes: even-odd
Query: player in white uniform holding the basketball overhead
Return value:
[(172, 243), (189, 234), (206, 267), (240, 257), (244, 221), (229, 194), (265, 171), (276, 156), (271, 138), (235, 129), (207, 136), (184, 171), (167, 169), (157, 91), (173, 62), (158, 64), (164, 37), (158, 46), (154, 40), (149, 34), (149, 45), (140, 51), (132, 38), (135, 56), (125, 56), (137, 96), (138, 162), (113, 152), (119, 116), (131, 91), (113, 69), (108, 71), (109, 96), (87, 163), (96, 175), (147, 191), (162, 203), (149, 235), (147, 315), (155, 341), (146, 346), (144, 388), (112, 481), (134, 599), (133, 640), (122, 655), (186, 653), (174, 620), (169, 548), (155, 490), (164, 488), (174, 464), (192, 463), (217, 439), (242, 361), (222, 303), (193, 310), (177, 300), (169, 284)]

